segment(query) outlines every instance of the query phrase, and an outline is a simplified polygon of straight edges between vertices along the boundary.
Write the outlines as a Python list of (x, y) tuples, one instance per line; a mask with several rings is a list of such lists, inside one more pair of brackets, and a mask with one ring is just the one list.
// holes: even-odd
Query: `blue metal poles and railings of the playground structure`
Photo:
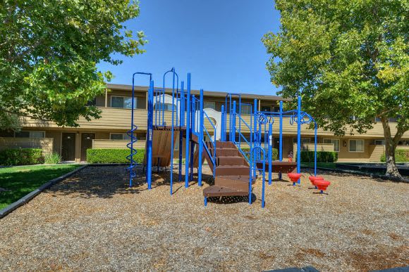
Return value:
[[(166, 75), (171, 74), (171, 109), (169, 103), (166, 103), (165, 98), (169, 96), (166, 94)], [(175, 131), (179, 131), (179, 155), (178, 155), (178, 181), (182, 181), (183, 168), (183, 136), (185, 137), (185, 187), (188, 188), (189, 182), (193, 181), (193, 167), (195, 146), (197, 146), (198, 167), (197, 167), (197, 184), (202, 186), (202, 158), (203, 152), (207, 153), (207, 157), (212, 162), (213, 176), (216, 173), (216, 135), (217, 127), (204, 111), (203, 105), (203, 89), (200, 89), (199, 98), (191, 94), (190, 82), (191, 75), (187, 75), (187, 84), (185, 91), (185, 82), (181, 81), (181, 88), (179, 89), (179, 76), (175, 68), (166, 71), (162, 77), (163, 84), (161, 88), (154, 87), (154, 80), (151, 73), (135, 72), (132, 79), (132, 110), (131, 110), (131, 124), (128, 135), (130, 142), (128, 148), (130, 155), (127, 159), (130, 162), (127, 167), (129, 176), (129, 186), (133, 186), (133, 178), (135, 177), (136, 162), (133, 157), (137, 150), (134, 148), (134, 143), (137, 141), (135, 131), (138, 129), (134, 124), (134, 98), (135, 98), (135, 76), (149, 75), (149, 89), (147, 93), (147, 138), (146, 138), (146, 181), (148, 189), (152, 188), (152, 141), (155, 129), (171, 130), (171, 162), (170, 162), (170, 193), (173, 195), (173, 151), (174, 151), (174, 137)], [(257, 99), (254, 104), (242, 103), (240, 93), (228, 93), (225, 98), (225, 104), (221, 106), (221, 139), (220, 141), (227, 141), (227, 125), (229, 128), (228, 141), (233, 142), (239, 152), (243, 155), (246, 162), (250, 166), (249, 175), (249, 204), (252, 202), (252, 181), (257, 179), (257, 172), (262, 175), (262, 207), (265, 205), (264, 200), (264, 181), (265, 181), (265, 165), (269, 163), (269, 177), (268, 182), (271, 185), (271, 168), (274, 162), (272, 161), (272, 147), (273, 147), (273, 124), (274, 119), (279, 119), (279, 162), (283, 161), (283, 118), (289, 118), (291, 125), (294, 122), (297, 124), (297, 172), (300, 173), (300, 149), (301, 149), (301, 124), (314, 123), (315, 128), (315, 150), (314, 150), (314, 175), (317, 175), (317, 123), (311, 115), (301, 110), (301, 97), (298, 96), (298, 106), (296, 110), (283, 111), (283, 101), (280, 101), (279, 112), (266, 112), (257, 110)], [(176, 107), (175, 107), (176, 106)], [(250, 124), (245, 121), (242, 116), (243, 106), (250, 107)], [(167, 112), (167, 113), (166, 113)], [(171, 114), (171, 126), (166, 124), (166, 115)], [(229, 122), (227, 124), (227, 117)], [(205, 123), (210, 124), (210, 130), (207, 129)], [(209, 127), (209, 126), (208, 126)], [(245, 131), (250, 131), (248, 136), (245, 136)], [(264, 138), (263, 138), (264, 135)], [(193, 138), (195, 140), (193, 141)], [(206, 140), (205, 140), (206, 139)], [(263, 140), (263, 141), (262, 141)], [(266, 155), (267, 154), (267, 155)], [(257, 163), (262, 165), (262, 169), (257, 168)], [(159, 162), (158, 169), (159, 169)], [(279, 173), (281, 179), (281, 173)], [(300, 183), (300, 180), (298, 180)], [(207, 198), (205, 197), (205, 204)]]

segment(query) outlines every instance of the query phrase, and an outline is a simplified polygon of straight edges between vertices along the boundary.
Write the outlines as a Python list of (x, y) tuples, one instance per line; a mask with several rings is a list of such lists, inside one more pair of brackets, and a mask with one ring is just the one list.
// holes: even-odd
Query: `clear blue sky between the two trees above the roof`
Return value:
[[(124, 58), (110, 70), (111, 83), (131, 84), (133, 72), (152, 72), (155, 86), (171, 67), (181, 79), (192, 73), (192, 89), (274, 95), (261, 38), (279, 30), (279, 12), (271, 0), (140, 0), (140, 16), (128, 29), (145, 32), (146, 53)], [(169, 84), (170, 84), (169, 77)], [(147, 85), (138, 79), (137, 85)], [(169, 86), (166, 84), (166, 86)]]

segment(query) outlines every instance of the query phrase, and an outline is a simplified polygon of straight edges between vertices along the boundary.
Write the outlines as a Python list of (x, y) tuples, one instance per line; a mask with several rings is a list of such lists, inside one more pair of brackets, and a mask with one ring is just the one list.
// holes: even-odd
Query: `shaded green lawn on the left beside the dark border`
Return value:
[(61, 164), (0, 168), (0, 209), (78, 167), (79, 164)]

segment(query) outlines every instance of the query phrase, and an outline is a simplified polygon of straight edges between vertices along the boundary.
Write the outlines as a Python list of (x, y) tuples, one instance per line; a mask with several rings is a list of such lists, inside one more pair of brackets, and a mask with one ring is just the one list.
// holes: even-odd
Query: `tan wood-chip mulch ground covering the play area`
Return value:
[(327, 195), (310, 189), (306, 177), (295, 187), (274, 181), (262, 209), (257, 181), (252, 205), (233, 197), (204, 207), (197, 183), (184, 188), (176, 182), (170, 195), (167, 174), (153, 174), (152, 190), (138, 174), (128, 188), (124, 168), (87, 167), (0, 219), (0, 270), (368, 271), (409, 265), (407, 183), (320, 172), (331, 181)]

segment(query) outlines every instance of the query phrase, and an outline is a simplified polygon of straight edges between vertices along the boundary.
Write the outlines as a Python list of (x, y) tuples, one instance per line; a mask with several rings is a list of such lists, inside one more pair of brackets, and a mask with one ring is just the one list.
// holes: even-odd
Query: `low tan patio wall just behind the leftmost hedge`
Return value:
[(44, 154), (53, 152), (53, 138), (3, 138), (0, 150), (13, 148), (41, 148)]

